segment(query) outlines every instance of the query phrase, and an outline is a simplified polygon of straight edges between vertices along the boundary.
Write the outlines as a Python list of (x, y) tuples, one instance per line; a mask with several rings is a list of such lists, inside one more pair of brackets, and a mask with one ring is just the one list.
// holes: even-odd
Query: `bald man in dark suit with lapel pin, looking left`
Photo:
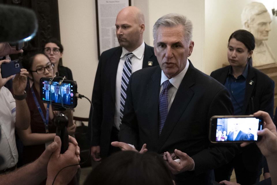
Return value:
[[(120, 47), (101, 54), (92, 92), (94, 111), (92, 114), (92, 109), (90, 110), (89, 117), (93, 116), (92, 122), (89, 121), (89, 127), (92, 123), (91, 156), (95, 161), (118, 150), (111, 146), (111, 142), (118, 140), (120, 111), (124, 108), (124, 103), (121, 101), (121, 83), (122, 77), (126, 75), (123, 68), (127, 54), (130, 52), (134, 54), (130, 59), (130, 73), (158, 65), (153, 47), (143, 42), (144, 16), (138, 8), (129, 6), (122, 9), (117, 15), (115, 26)], [(127, 85), (128, 83), (124, 86)]]

